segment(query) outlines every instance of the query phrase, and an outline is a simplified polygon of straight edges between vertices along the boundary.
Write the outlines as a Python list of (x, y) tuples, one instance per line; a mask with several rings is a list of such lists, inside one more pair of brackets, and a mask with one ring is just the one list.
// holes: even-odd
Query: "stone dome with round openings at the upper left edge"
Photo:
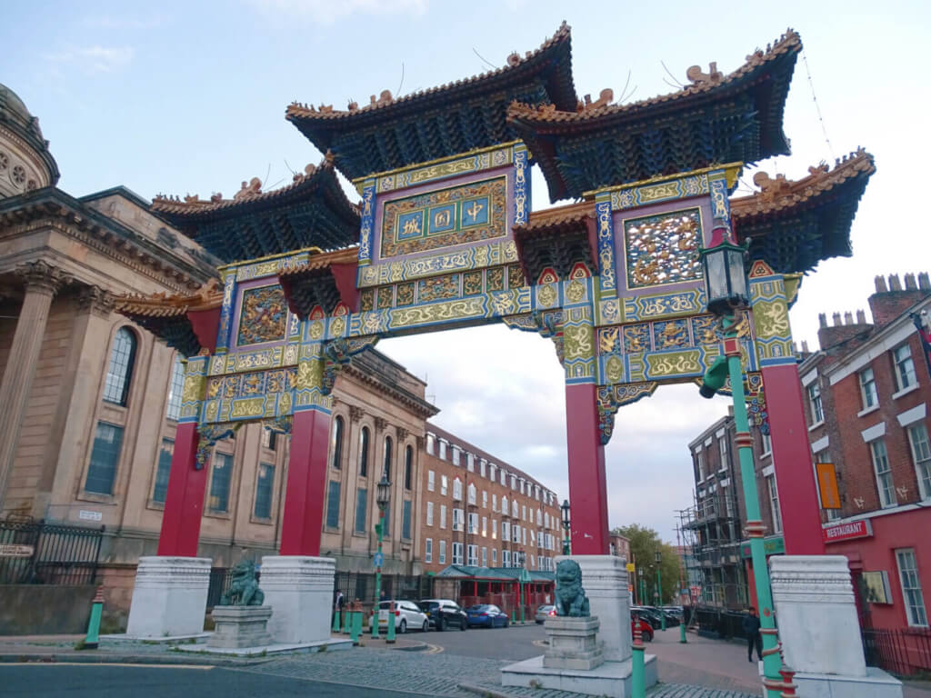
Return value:
[(16, 92), (0, 83), (0, 197), (54, 186), (58, 180), (58, 164), (39, 120)]

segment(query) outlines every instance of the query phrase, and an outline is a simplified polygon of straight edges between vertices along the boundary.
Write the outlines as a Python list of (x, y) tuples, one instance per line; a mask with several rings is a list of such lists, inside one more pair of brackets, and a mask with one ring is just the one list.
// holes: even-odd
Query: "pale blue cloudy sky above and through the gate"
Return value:
[[(818, 313), (867, 309), (875, 275), (931, 269), (923, 87), (931, 4), (499, 0), (231, 0), (5, 3), (0, 83), (39, 117), (62, 190), (117, 184), (157, 194), (264, 188), (321, 154), (284, 119), (291, 101), (368, 103), (479, 74), (573, 29), (579, 95), (637, 101), (674, 91), (689, 66), (734, 71), (791, 27), (802, 35), (785, 113), (792, 155), (757, 165), (800, 179), (859, 146), (875, 156), (852, 258), (806, 275), (791, 311), (816, 348)], [(678, 83), (678, 84), (677, 84)], [(740, 189), (752, 187), (745, 170)], [(550, 202), (534, 168), (533, 207)], [(748, 186), (749, 185), (749, 186)], [(354, 200), (357, 199), (352, 193)], [(568, 202), (561, 202), (568, 203)], [(442, 428), (568, 496), (562, 369), (552, 342), (504, 326), (387, 340), (379, 349), (428, 380)], [(623, 408), (606, 450), (611, 526), (675, 542), (692, 502), (687, 444), (727, 411), (690, 385)]]

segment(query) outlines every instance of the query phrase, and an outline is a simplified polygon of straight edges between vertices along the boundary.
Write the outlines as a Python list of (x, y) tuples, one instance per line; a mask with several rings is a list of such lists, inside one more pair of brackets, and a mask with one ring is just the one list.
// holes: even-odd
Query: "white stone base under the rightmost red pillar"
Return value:
[(779, 639), (800, 695), (901, 696), (901, 682), (867, 668), (846, 557), (777, 555), (769, 567)]

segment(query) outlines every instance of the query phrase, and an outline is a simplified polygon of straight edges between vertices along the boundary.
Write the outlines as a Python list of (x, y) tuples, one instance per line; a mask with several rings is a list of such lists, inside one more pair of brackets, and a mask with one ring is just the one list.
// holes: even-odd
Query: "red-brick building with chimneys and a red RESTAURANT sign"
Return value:
[[(876, 277), (866, 313), (820, 316), (800, 367), (815, 463), (833, 470), (823, 511), (828, 554), (845, 555), (864, 625), (926, 627), (931, 584), (931, 376), (913, 316), (931, 313), (927, 274)], [(822, 493), (833, 498), (830, 475)]]

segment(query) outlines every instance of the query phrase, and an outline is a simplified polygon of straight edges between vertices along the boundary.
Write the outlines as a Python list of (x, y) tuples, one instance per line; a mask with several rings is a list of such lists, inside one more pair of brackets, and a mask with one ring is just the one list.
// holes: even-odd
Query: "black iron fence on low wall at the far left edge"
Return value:
[(103, 530), (0, 521), (0, 584), (94, 584)]

